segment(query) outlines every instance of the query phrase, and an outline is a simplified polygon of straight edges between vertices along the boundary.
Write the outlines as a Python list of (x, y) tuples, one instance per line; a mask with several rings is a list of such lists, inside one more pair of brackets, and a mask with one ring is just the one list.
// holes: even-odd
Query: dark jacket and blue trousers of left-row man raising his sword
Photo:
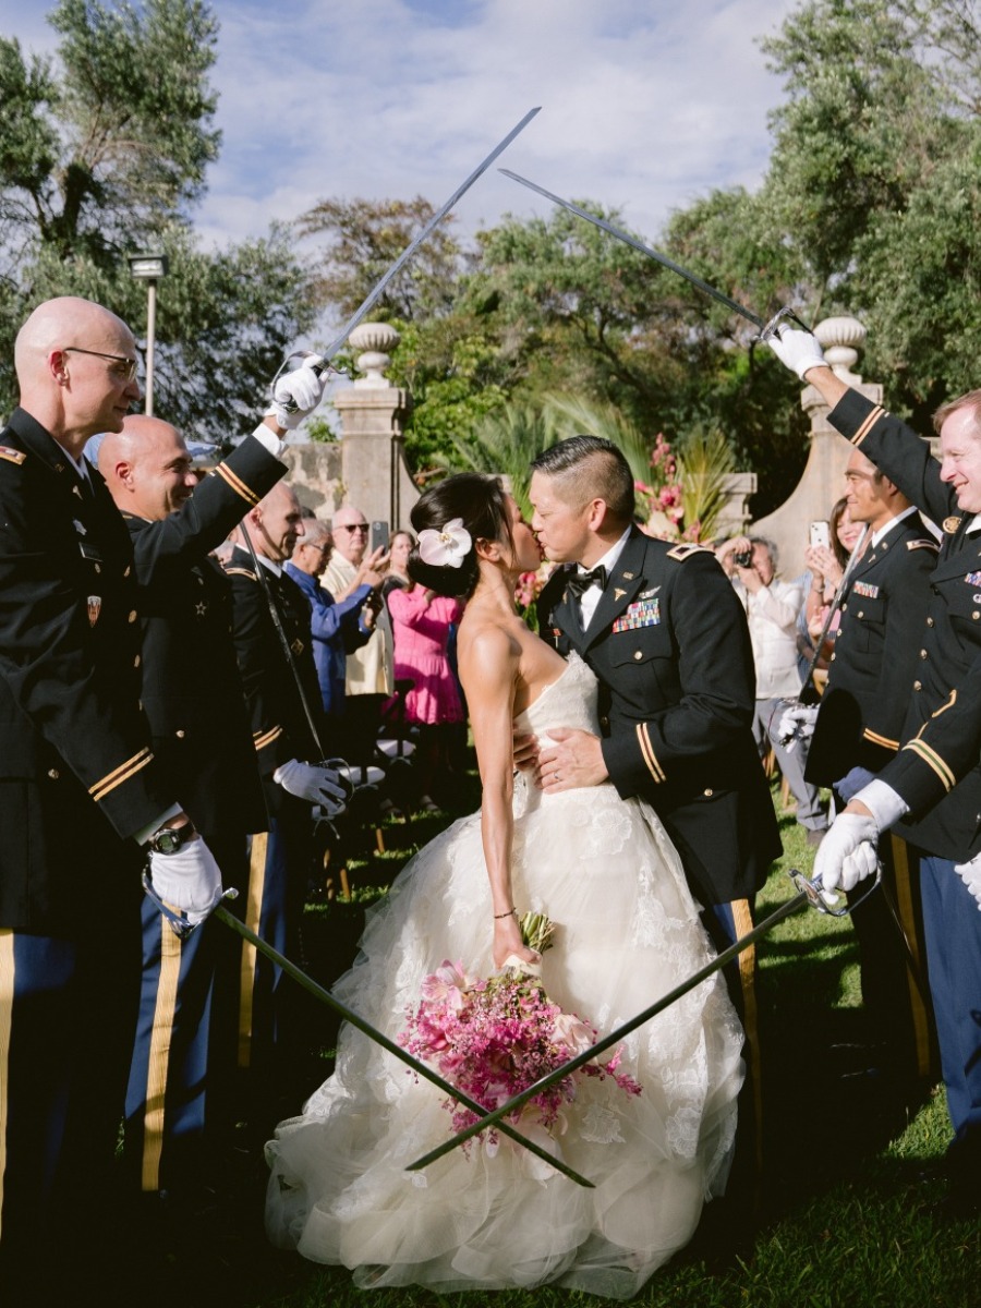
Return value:
[[(245, 887), (246, 838), (267, 816), (232, 641), (232, 583), (208, 551), (284, 472), (250, 436), (167, 518), (127, 517), (154, 755), (225, 887)], [(126, 1159), (143, 1190), (194, 1186), (232, 1130), (234, 942), (216, 921), (181, 940), (144, 899), (143, 988), (126, 1104)]]

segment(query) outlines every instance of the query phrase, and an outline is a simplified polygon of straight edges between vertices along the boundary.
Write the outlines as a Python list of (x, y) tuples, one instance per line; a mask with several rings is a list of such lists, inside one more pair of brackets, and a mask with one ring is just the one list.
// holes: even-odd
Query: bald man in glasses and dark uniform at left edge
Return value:
[[(107, 1288), (111, 1173), (140, 989), (140, 871), (177, 910), (221, 892), (140, 705), (129, 534), (82, 456), (139, 398), (126, 324), (47, 301), (0, 433), (0, 1298)], [(105, 1243), (103, 1243), (105, 1241)], [(52, 1257), (51, 1248), (59, 1256)]]

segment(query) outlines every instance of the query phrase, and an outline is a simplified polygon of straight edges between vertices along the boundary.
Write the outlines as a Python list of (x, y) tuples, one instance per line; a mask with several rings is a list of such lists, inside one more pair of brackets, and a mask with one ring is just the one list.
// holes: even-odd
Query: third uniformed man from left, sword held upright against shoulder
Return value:
[[(238, 667), (269, 812), (268, 833), (250, 841), (245, 921), (290, 955), (296, 954), (313, 858), (311, 806), (330, 806), (343, 790), (335, 785), (336, 773), (320, 765), (320, 747), (327, 747), (326, 715), (311, 649), (310, 606), (284, 566), (303, 535), (296, 493), (284, 483), (276, 485), (250, 510), (243, 530), (258, 564), (237, 545), (225, 569), (232, 581)], [(296, 999), (289, 978), (243, 944), (238, 1065), (250, 1083), (250, 1125), (260, 1134), (279, 1120), (273, 1116), (277, 1097), (296, 1104), (297, 1096), (314, 1088), (297, 1084), (305, 1069)]]

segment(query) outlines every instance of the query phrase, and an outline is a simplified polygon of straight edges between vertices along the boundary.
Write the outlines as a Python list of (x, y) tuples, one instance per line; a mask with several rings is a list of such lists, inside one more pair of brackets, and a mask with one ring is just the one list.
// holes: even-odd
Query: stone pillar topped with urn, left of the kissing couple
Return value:
[(409, 526), (409, 510), (419, 498), (403, 450), (403, 419), (411, 396), (385, 377), (388, 352), (400, 336), (387, 323), (361, 323), (349, 340), (362, 351), (356, 361), (362, 375), (334, 396), (341, 419), (341, 498), (369, 522), (381, 519), (396, 531)]

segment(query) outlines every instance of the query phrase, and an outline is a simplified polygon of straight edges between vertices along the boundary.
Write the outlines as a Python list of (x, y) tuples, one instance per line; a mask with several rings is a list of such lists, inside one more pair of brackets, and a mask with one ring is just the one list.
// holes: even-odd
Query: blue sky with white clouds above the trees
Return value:
[[(103, 0), (111, 3), (111, 0)], [(43, 0), (0, 31), (54, 52)], [(205, 246), (318, 200), (442, 204), (534, 106), (497, 166), (620, 211), (654, 241), (672, 211), (761, 179), (781, 101), (759, 38), (798, 0), (212, 0), (220, 160), (195, 209)], [(489, 170), (456, 232), (548, 201)]]

